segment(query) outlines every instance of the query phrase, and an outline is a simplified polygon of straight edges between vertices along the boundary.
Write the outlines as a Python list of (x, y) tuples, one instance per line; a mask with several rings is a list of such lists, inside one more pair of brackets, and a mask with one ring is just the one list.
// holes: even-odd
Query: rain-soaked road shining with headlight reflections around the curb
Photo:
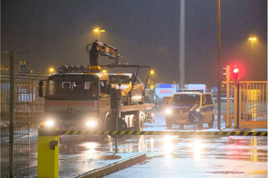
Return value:
[[(156, 119), (155, 123), (145, 124), (145, 131), (166, 129), (164, 114), (160, 110), (154, 112), (154, 119)], [(207, 129), (206, 124), (204, 127)], [(172, 130), (178, 129), (178, 126), (175, 126)], [(193, 130), (193, 126), (185, 126), (185, 130)], [(147, 160), (143, 164), (133, 165), (107, 177), (131, 177), (134, 174), (132, 170), (138, 172), (140, 170), (137, 177), (144, 177), (145, 172), (155, 175), (147, 177), (166, 177), (166, 175), (178, 177), (179, 172), (184, 177), (197, 177), (202, 174), (206, 177), (219, 177), (218, 172), (215, 174), (216, 171), (242, 171), (241, 177), (250, 175), (263, 177), (267, 171), (267, 143), (267, 137), (257, 136), (124, 136), (119, 139), (119, 151), (144, 152)], [(60, 139), (59, 157), (63, 160), (82, 154), (92, 154), (92, 159), (94, 159), (94, 156), (98, 156), (96, 153), (114, 152), (114, 148), (115, 142), (112, 138), (101, 141), (100, 136), (66, 136)], [(31, 137), (30, 153), (31, 166), (36, 165), (37, 136)], [(178, 165), (180, 165), (179, 170)], [(157, 174), (160, 169), (163, 171)], [(198, 172), (201, 174), (197, 174)], [(228, 175), (238, 176), (239, 174)]]

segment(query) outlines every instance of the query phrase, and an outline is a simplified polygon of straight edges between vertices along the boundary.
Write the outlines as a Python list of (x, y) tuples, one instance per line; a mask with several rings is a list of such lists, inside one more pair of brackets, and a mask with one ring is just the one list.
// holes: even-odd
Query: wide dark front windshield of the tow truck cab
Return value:
[(98, 77), (94, 75), (49, 77), (46, 98), (54, 100), (97, 100)]

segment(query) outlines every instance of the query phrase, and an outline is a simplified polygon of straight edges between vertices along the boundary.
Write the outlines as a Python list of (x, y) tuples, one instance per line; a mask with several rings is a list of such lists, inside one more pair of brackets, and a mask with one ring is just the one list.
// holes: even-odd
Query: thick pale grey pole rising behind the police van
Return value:
[(180, 0), (180, 25), (179, 25), (179, 72), (180, 88), (185, 88), (185, 0)]

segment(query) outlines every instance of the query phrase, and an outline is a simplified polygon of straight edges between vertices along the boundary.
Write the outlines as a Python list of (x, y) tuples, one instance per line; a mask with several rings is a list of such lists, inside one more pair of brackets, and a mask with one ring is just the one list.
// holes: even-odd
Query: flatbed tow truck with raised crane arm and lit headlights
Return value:
[[(91, 50), (88, 50), (90, 45)], [(39, 96), (45, 97), (43, 125), (78, 130), (142, 131), (145, 122), (154, 122), (152, 114), (145, 110), (153, 108), (155, 104), (124, 106), (120, 84), (119, 88), (111, 88), (108, 73), (105, 72), (107, 67), (137, 67), (138, 73), (139, 68), (147, 67), (150, 71), (151, 66), (129, 65), (116, 48), (97, 40), (87, 45), (86, 50), (90, 54), (89, 66), (63, 65), (57, 73), (39, 81)], [(115, 63), (101, 68), (99, 54), (115, 59)], [(126, 62), (119, 62), (119, 57)], [(130, 79), (132, 85), (136, 82), (137, 73), (133, 73)], [(44, 82), (45, 96), (42, 88)]]

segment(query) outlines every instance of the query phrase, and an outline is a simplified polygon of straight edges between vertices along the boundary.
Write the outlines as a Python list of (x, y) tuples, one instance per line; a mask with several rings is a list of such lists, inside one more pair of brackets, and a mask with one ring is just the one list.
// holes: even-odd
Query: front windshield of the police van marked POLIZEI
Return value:
[(170, 104), (200, 104), (200, 95), (195, 94), (175, 94)]

